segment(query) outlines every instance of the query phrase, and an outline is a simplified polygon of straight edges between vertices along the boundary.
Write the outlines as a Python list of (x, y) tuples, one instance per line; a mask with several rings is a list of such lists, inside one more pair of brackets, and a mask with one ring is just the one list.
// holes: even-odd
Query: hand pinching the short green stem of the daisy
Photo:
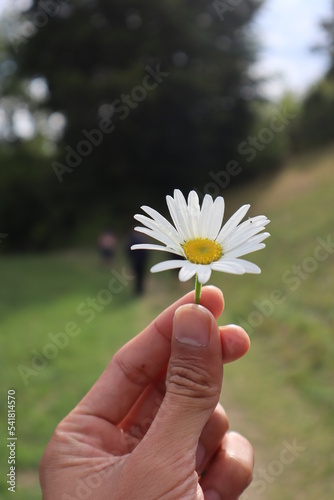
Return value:
[[(234, 500), (253, 451), (218, 404), (223, 363), (249, 339), (218, 328), (222, 293), (189, 293), (118, 351), (58, 425), (41, 460), (44, 500)], [(124, 320), (126, 327), (126, 320)]]

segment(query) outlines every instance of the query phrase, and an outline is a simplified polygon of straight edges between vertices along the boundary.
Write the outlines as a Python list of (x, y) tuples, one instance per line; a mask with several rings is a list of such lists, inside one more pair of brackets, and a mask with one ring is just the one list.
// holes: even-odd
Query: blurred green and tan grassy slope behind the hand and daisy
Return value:
[[(327, 151), (298, 159), (274, 180), (227, 197), (229, 207), (250, 201), (252, 214), (265, 213), (272, 220), (268, 248), (253, 257), (262, 274), (216, 273), (212, 280), (226, 298), (220, 321), (244, 325), (252, 340), (247, 356), (226, 367), (222, 393), (231, 427), (255, 448), (255, 480), (245, 500), (333, 494), (334, 253), (323, 250), (322, 260), (315, 257), (318, 238), (334, 240), (333, 155)], [(118, 256), (115, 269), (121, 272), (124, 265)], [(2, 256), (0, 276), (2, 428), (7, 390), (15, 388), (16, 498), (35, 500), (41, 498), (38, 463), (59, 420), (94, 383), (113, 352), (193, 283), (178, 283), (172, 272), (151, 276), (147, 294), (134, 300), (130, 282), (86, 323), (88, 316), (80, 316), (78, 306), (85, 303), (87, 308), (87, 299), (96, 298), (110, 279), (93, 252)], [(31, 369), (33, 356), (50, 344), (50, 334), (63, 332), (69, 322), (80, 333), (63, 349), (53, 348), (54, 359), (34, 375), (29, 372), (25, 384), (18, 367), (21, 372), (23, 365)], [(6, 431), (0, 447), (1, 498), (9, 497), (5, 437)], [(287, 443), (298, 447), (290, 461), (284, 459)]]

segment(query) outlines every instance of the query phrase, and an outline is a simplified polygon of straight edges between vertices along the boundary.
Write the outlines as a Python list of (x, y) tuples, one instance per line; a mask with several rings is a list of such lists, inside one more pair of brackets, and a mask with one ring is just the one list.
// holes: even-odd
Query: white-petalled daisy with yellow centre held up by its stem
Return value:
[(270, 235), (261, 231), (270, 222), (267, 217), (259, 215), (240, 224), (250, 207), (243, 205), (222, 227), (225, 208), (222, 196), (213, 200), (210, 195), (205, 195), (200, 207), (195, 191), (190, 191), (187, 203), (181, 191), (175, 189), (174, 197), (167, 196), (166, 201), (174, 225), (148, 206), (141, 208), (149, 217), (134, 216), (143, 224), (135, 230), (161, 244), (133, 245), (132, 250), (161, 250), (179, 257), (156, 264), (151, 272), (180, 268), (180, 281), (196, 275), (199, 293), (200, 286), (209, 281), (212, 271), (232, 274), (261, 272), (256, 264), (240, 257), (265, 247), (263, 241)]

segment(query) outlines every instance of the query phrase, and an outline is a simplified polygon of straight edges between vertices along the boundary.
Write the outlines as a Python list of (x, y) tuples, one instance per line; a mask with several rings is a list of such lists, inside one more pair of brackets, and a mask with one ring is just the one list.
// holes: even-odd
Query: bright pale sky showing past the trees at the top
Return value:
[[(0, 15), (8, 6), (29, 3), (0, 0)], [(319, 23), (330, 13), (331, 0), (266, 0), (254, 21), (262, 49), (252, 71), (269, 78), (262, 86), (267, 97), (279, 98), (286, 90), (303, 95), (323, 76), (328, 60), (310, 48), (324, 40)]]

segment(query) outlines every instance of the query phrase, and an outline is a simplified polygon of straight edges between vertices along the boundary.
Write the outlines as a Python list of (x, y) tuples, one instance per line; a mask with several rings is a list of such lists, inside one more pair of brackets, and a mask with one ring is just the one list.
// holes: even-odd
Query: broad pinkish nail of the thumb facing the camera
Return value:
[(181, 344), (205, 347), (209, 343), (211, 315), (200, 305), (179, 307), (174, 316), (174, 335)]

